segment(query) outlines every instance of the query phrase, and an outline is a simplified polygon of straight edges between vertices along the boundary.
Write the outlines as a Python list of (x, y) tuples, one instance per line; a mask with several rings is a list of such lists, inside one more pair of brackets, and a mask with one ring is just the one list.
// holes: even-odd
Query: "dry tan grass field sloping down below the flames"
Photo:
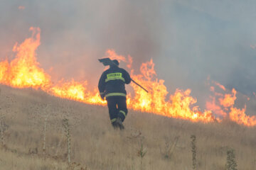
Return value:
[[(0, 86), (0, 169), (224, 170), (235, 150), (237, 169), (256, 169), (256, 128), (229, 121), (191, 123), (129, 111), (125, 130), (112, 129), (106, 107)], [(63, 119), (70, 130), (68, 140)], [(196, 136), (192, 159), (191, 135)]]

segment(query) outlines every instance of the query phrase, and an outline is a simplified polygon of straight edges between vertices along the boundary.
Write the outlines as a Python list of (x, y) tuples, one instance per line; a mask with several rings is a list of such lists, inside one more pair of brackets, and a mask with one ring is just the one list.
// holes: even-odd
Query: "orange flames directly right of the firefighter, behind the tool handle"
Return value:
[(187, 89), (186, 91), (176, 89), (174, 95), (171, 95), (167, 99), (168, 91), (166, 86), (164, 86), (164, 80), (156, 78), (153, 60), (143, 63), (140, 72), (142, 74), (132, 74), (132, 79), (146, 89), (149, 89), (149, 93), (140, 89), (139, 86), (132, 84), (135, 95), (134, 98), (129, 100), (128, 106), (134, 110), (195, 122), (212, 122), (215, 120), (210, 111), (204, 111), (202, 113), (198, 111), (198, 106), (193, 106), (196, 103), (196, 98), (190, 96), (191, 89)]

